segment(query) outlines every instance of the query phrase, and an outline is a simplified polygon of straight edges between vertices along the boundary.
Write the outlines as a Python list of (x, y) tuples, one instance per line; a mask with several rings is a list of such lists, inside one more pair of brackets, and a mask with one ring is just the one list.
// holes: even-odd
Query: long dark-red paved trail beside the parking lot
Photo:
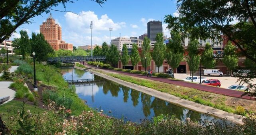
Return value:
[[(85, 64), (85, 65), (91, 66), (88, 64)], [(95, 66), (91, 66), (91, 67), (95, 67)], [(139, 77), (139, 78), (150, 79), (150, 80), (154, 80), (154, 81), (160, 81), (163, 83), (179, 85), (179, 86), (183, 86), (183, 87), (194, 88), (194, 89), (198, 89), (201, 91), (207, 91), (207, 92), (221, 94), (221, 95), (225, 95), (225, 96), (232, 96), (232, 97), (244, 98), (244, 99), (248, 99), (248, 100), (255, 100), (255, 98), (251, 98), (251, 96), (248, 96), (248, 95), (241, 97), (241, 95), (244, 93), (242, 91), (234, 91), (234, 90), (230, 90), (230, 89), (212, 87), (212, 86), (201, 85), (201, 84), (197, 84), (197, 83), (189, 83), (189, 82), (179, 81), (179, 80), (171, 80), (171, 79), (166, 79), (166, 78), (147, 77), (146, 75), (126, 73), (126, 72), (115, 71), (115, 70), (111, 70), (111, 69), (103, 69), (103, 70), (116, 72), (116, 73), (120, 73), (120, 74), (124, 74), (124, 75), (129, 75), (129, 76), (133, 76), (133, 77)]]

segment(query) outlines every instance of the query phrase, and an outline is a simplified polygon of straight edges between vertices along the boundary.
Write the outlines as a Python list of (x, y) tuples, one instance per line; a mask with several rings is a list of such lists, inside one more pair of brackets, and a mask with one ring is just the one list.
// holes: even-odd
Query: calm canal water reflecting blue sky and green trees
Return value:
[(144, 119), (151, 120), (154, 116), (168, 114), (179, 120), (185, 121), (186, 118), (190, 118), (199, 123), (205, 120), (219, 120), (219, 118), (176, 106), (83, 70), (65, 68), (61, 69), (61, 72), (65, 80), (72, 80), (72, 77), (73, 80), (94, 79), (92, 83), (76, 85), (76, 93), (81, 99), (87, 100), (88, 106), (98, 111), (102, 109), (103, 113), (110, 117), (141, 122)]

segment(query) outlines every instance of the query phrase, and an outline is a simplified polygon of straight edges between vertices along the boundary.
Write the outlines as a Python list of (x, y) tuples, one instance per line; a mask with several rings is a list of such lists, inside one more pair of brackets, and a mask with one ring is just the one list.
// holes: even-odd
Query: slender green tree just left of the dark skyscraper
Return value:
[[(146, 57), (146, 60), (145, 60), (145, 57)], [(142, 53), (141, 53), (141, 56), (140, 56), (140, 61), (142, 63), (142, 66), (144, 68), (147, 68), (150, 65), (151, 59), (152, 58), (151, 58), (151, 55), (150, 55), (150, 39), (145, 37), (144, 40), (143, 40)], [(146, 65), (145, 65), (145, 62), (146, 62)]]

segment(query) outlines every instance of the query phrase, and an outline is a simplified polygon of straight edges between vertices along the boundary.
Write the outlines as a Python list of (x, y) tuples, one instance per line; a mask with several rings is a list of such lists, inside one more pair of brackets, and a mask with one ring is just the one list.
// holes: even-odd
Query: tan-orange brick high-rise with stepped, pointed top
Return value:
[(40, 25), (40, 33), (43, 34), (45, 40), (54, 50), (73, 50), (73, 44), (65, 43), (65, 41), (61, 40), (61, 27), (55, 23), (51, 13), (46, 22)]

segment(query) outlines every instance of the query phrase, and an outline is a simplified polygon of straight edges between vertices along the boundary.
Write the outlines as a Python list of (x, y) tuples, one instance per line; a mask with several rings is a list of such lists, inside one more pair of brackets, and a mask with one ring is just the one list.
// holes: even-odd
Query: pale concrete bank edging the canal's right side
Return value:
[[(75, 67), (75, 68), (77, 68), (77, 67)], [(222, 110), (218, 110), (218, 109), (213, 108), (213, 107), (209, 107), (209, 106), (205, 106), (205, 105), (195, 103), (195, 102), (192, 102), (192, 101), (189, 101), (189, 100), (185, 100), (185, 99), (179, 98), (177, 96), (173, 96), (173, 95), (170, 95), (170, 94), (167, 94), (167, 93), (163, 93), (163, 92), (160, 92), (160, 91), (148, 88), (148, 87), (136, 85), (136, 84), (133, 84), (133, 83), (130, 83), (130, 82), (127, 82), (127, 81), (123, 81), (121, 79), (117, 79), (117, 78), (114, 78), (112, 76), (101, 73), (102, 71), (105, 72), (105, 70), (102, 70), (102, 69), (90, 69), (90, 68), (91, 67), (87, 68), (88, 72), (91, 72), (95, 75), (98, 75), (100, 77), (103, 77), (105, 79), (113, 81), (115, 83), (118, 83), (120, 85), (124, 85), (126, 87), (131, 88), (131, 89), (135, 89), (135, 90), (140, 91), (142, 93), (146, 93), (148, 95), (154, 96), (156, 98), (160, 98), (160, 99), (165, 100), (167, 102), (170, 102), (172, 104), (182, 106), (184, 108), (188, 108), (188, 109), (196, 111), (196, 112), (200, 112), (200, 113), (203, 113), (203, 114), (208, 113), (208, 114), (210, 114), (212, 116), (216, 116), (218, 118), (223, 118), (223, 119), (225, 118), (226, 120), (232, 121), (234, 123), (243, 124), (242, 118), (244, 118), (244, 116), (224, 112)], [(108, 72), (110, 72), (110, 71), (108, 71)]]

